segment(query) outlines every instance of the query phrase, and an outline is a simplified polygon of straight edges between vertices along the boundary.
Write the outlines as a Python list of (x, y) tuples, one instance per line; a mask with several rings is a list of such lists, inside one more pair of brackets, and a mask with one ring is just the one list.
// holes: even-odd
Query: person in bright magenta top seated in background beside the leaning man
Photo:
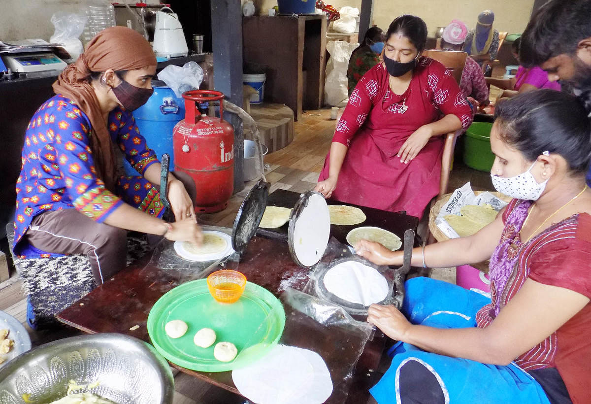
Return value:
[[(521, 38), (517, 38), (511, 46), (511, 52), (517, 60), (519, 60), (520, 41)], [(540, 88), (560, 91), (560, 84), (548, 80), (548, 73), (544, 72), (538, 66), (529, 68), (519, 66), (517, 74), (512, 79), (493, 79), (492, 77), (486, 77), (486, 82), (503, 90), (499, 98), (510, 98), (518, 93)]]

